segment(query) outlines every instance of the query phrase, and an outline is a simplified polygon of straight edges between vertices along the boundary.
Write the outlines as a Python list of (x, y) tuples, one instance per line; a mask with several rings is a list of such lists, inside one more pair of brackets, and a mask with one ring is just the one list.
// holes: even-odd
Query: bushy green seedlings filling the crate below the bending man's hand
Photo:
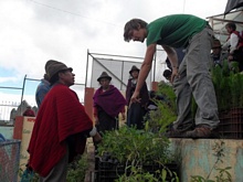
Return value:
[(106, 131), (98, 147), (98, 154), (105, 152), (118, 159), (119, 162), (148, 163), (150, 161), (168, 162), (169, 140), (160, 138), (159, 133), (136, 128), (120, 127), (119, 130)]

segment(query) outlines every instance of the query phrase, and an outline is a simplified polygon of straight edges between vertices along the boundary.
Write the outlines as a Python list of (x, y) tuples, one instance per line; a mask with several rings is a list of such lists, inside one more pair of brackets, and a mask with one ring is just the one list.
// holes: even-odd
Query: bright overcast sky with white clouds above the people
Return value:
[(144, 56), (145, 44), (124, 42), (128, 20), (175, 13), (205, 19), (225, 6), (226, 0), (0, 0), (0, 86), (21, 87), (24, 75), (42, 78), (50, 58), (72, 66), (76, 83), (84, 83), (87, 50)]

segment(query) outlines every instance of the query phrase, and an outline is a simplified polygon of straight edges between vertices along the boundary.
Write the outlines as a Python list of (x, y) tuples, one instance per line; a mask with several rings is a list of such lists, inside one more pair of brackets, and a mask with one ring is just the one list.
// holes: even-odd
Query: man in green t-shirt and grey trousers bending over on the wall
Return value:
[[(144, 42), (147, 51), (131, 101), (139, 101), (139, 90), (151, 69), (157, 44), (166, 51), (172, 66), (171, 83), (177, 95), (178, 118), (169, 137), (208, 138), (219, 125), (216, 98), (210, 77), (210, 51), (213, 31), (205, 20), (190, 14), (172, 14), (147, 23), (140, 19), (128, 21), (124, 40)], [(175, 49), (186, 49), (180, 66)], [(191, 115), (192, 95), (198, 105)]]

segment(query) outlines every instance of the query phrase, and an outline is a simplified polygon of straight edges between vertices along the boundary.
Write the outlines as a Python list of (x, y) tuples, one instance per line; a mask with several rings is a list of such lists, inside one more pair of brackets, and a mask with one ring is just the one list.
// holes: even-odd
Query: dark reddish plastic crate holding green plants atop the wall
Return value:
[(220, 138), (243, 139), (243, 108), (222, 111), (219, 115), (220, 125), (215, 129)]

